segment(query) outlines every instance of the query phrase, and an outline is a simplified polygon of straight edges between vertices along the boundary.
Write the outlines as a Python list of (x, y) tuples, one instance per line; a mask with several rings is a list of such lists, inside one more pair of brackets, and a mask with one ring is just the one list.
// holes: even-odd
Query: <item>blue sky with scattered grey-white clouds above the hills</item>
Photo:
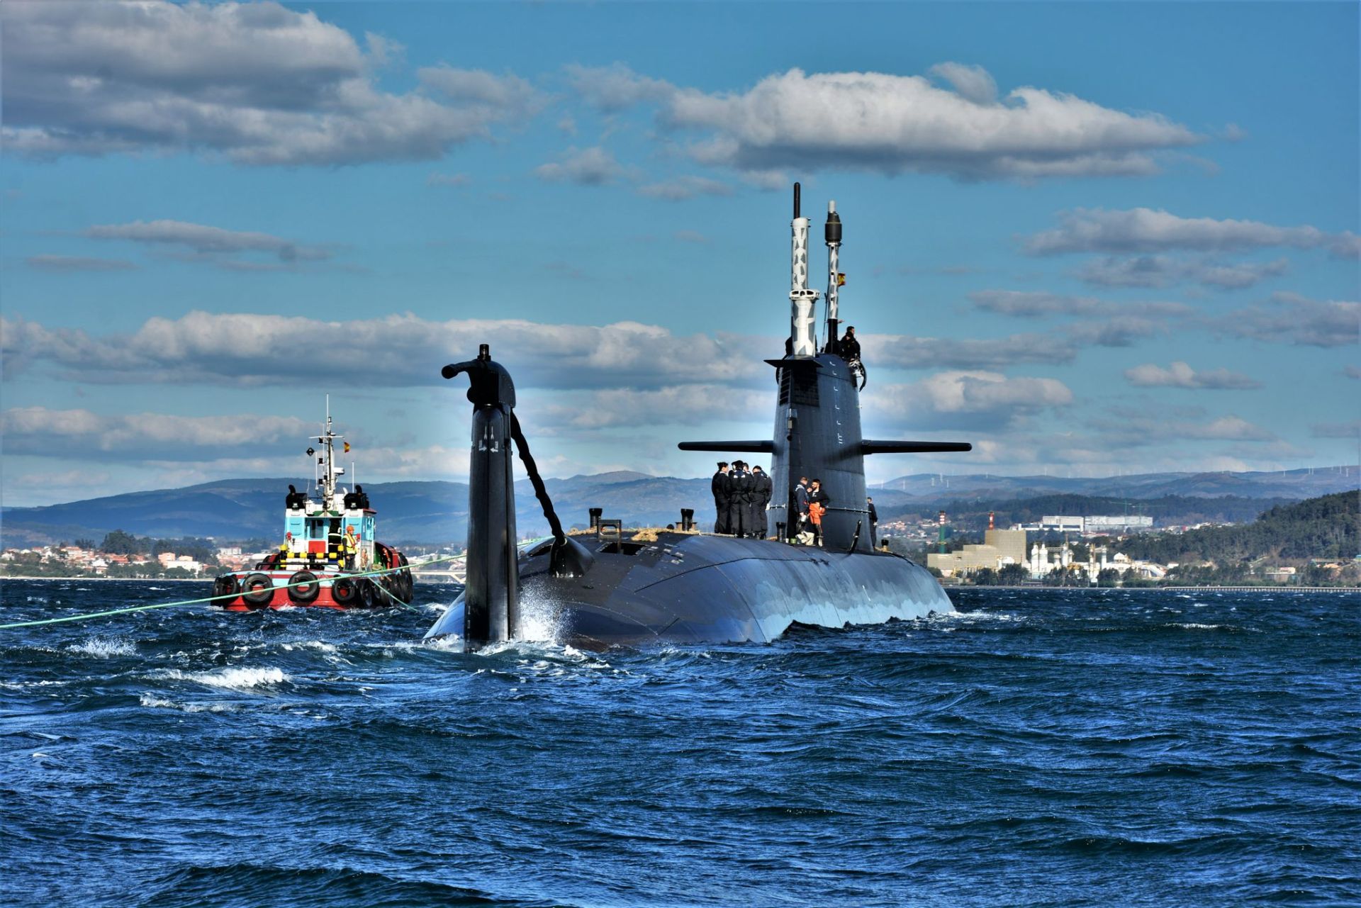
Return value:
[[(1358, 5), (0, 5), (0, 497), (544, 475), (769, 437), (791, 185), (845, 225), (867, 460), (1358, 460)], [(819, 304), (821, 312), (821, 304)]]

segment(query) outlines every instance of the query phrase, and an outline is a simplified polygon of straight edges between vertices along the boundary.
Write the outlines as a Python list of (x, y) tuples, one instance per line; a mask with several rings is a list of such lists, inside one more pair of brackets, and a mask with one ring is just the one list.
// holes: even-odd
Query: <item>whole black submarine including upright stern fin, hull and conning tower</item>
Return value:
[[(819, 294), (808, 287), (808, 219), (799, 212), (799, 184), (793, 184), (792, 233), (789, 342), (783, 358), (766, 359), (778, 387), (770, 440), (679, 445), (682, 451), (770, 455), (777, 494), (766, 510), (768, 538), (565, 534), (520, 432), (510, 373), (482, 344), (476, 359), (442, 372), (445, 378), (468, 376), (472, 403), (467, 587), (426, 633), (427, 640), (459, 636), (475, 649), (514, 638), (524, 618), (521, 599), (528, 598), (536, 613), (551, 610), (561, 643), (591, 648), (764, 643), (793, 623), (841, 628), (953, 611), (925, 568), (871, 546), (864, 456), (970, 451), (972, 445), (862, 437), (857, 376), (838, 353), (841, 219), (836, 203), (827, 206), (826, 342), (821, 350), (814, 327)], [(512, 442), (553, 531), (550, 539), (523, 553), (516, 546)], [(799, 476), (822, 479), (830, 497), (822, 547), (788, 540)]]

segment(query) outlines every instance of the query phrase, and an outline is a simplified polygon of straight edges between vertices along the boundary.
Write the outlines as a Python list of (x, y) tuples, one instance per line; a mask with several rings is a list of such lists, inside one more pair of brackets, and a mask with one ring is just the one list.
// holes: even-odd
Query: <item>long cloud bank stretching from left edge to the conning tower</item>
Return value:
[[(769, 380), (761, 362), (773, 342), (728, 334), (676, 336), (621, 321), (553, 325), (517, 319), (431, 321), (392, 314), (323, 321), (275, 314), (192, 312), (154, 317), (131, 335), (0, 319), (5, 376), (42, 365), (88, 383), (180, 383), (237, 387), (320, 387), (314, 363), (297, 355), (305, 340), (336, 362), (363, 362), (376, 387), (437, 385), (440, 368), (490, 343), (523, 387), (657, 388), (682, 383)], [(320, 384), (318, 384), (320, 383)]]

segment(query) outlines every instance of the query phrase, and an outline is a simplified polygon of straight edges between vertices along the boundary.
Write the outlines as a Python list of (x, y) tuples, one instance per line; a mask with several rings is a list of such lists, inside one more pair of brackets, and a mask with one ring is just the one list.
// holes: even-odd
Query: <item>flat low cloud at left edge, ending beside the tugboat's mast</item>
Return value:
[(293, 417), (176, 417), (155, 412), (102, 417), (88, 410), (19, 407), (0, 414), (5, 451), (16, 455), (69, 455), (80, 448), (106, 456), (176, 459), (204, 449), (284, 449), (313, 433)]

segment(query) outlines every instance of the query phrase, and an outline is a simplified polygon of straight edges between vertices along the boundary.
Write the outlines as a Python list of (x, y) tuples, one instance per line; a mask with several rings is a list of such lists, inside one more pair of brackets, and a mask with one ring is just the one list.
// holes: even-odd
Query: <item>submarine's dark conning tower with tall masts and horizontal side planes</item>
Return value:
[(864, 455), (970, 451), (955, 441), (870, 441), (860, 432), (860, 388), (838, 348), (841, 285), (841, 216), (827, 203), (826, 343), (818, 348), (815, 304), (808, 287), (810, 222), (800, 211), (800, 187), (793, 184), (789, 263), (789, 340), (785, 355), (766, 359), (776, 369), (778, 396), (770, 441), (685, 441), (682, 451), (770, 455), (774, 494), (766, 510), (766, 535), (793, 532), (793, 487), (800, 476), (821, 479), (830, 498), (822, 517), (822, 545), (833, 551), (870, 551), (870, 510), (866, 504)]

